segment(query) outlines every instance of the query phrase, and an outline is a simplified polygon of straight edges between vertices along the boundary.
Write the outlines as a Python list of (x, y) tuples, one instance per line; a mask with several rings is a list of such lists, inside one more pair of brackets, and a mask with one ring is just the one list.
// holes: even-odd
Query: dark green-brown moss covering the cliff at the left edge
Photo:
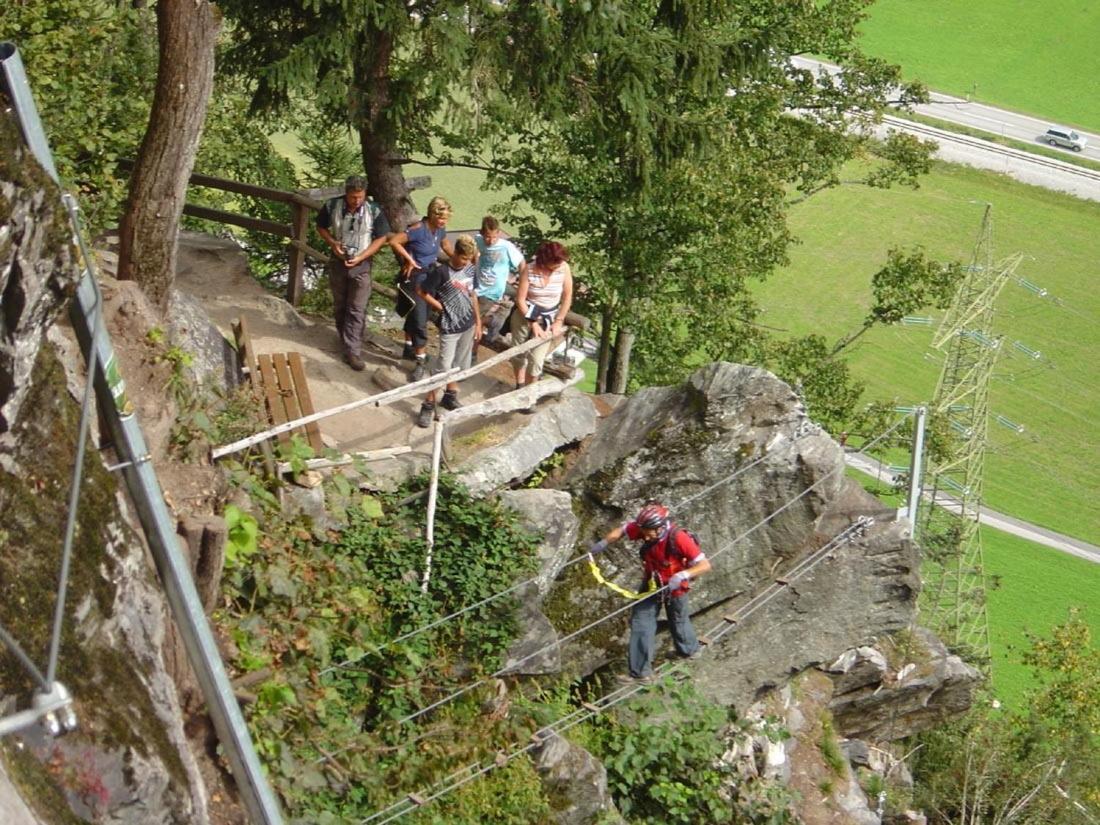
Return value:
[[(4, 582), (6, 595), (0, 604), (0, 623), (15, 635), (43, 671), (56, 604), (79, 413), (66, 389), (61, 363), (51, 348), (43, 348), (23, 414), (13, 427), (13, 459), (21, 472), (0, 471), (0, 513), (4, 514), (7, 535), (0, 549), (0, 581)], [(155, 754), (174, 783), (186, 784), (179, 754), (150, 706), (140, 673), (142, 663), (135, 662), (129, 650), (89, 642), (77, 628), (78, 609), (87, 610), (89, 623), (112, 616), (113, 580), (122, 571), (108, 548), (112, 541), (136, 541), (131, 535), (121, 539), (112, 535), (118, 529), (129, 532), (118, 509), (117, 494), (114, 476), (103, 469), (94, 449), (87, 450), (57, 678), (76, 701), (80, 732), (74, 736), (88, 737), (105, 748)], [(0, 683), (6, 693), (21, 702), (36, 688), (7, 651), (0, 652)], [(34, 771), (25, 766), (22, 772)], [(38, 774), (34, 781), (23, 783), (31, 792), (28, 799), (36, 804), (48, 796), (36, 789), (43, 783), (54, 784), (45, 768), (40, 768)]]

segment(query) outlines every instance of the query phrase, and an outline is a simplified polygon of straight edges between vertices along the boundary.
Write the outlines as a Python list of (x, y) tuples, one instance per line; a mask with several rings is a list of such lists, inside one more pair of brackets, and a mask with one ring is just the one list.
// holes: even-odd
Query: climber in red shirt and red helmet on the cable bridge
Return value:
[(640, 590), (647, 590), (652, 583), (657, 591), (630, 610), (629, 675), (620, 679), (624, 682), (649, 682), (653, 679), (653, 642), (662, 604), (676, 652), (684, 659), (698, 653), (688, 590), (692, 580), (711, 570), (711, 562), (691, 532), (672, 524), (669, 508), (659, 502), (647, 503), (632, 521), (616, 527), (594, 543), (592, 554), (603, 552), (624, 536), (631, 541), (644, 542), (639, 549), (645, 571)]

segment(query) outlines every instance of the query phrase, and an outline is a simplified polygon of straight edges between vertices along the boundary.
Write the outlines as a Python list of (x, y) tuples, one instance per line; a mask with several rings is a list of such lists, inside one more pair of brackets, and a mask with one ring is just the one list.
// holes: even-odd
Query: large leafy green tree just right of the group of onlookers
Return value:
[[(615, 374), (626, 369), (630, 387), (667, 384), (702, 363), (769, 350), (748, 283), (785, 261), (790, 194), (838, 184), (842, 164), (870, 145), (850, 132), (846, 113), (873, 118), (892, 94), (897, 69), (850, 44), (862, 3), (748, 7), (624, 12), (598, 50), (618, 70), (596, 62), (582, 75), (584, 94), (601, 103), (588, 108), (582, 98), (569, 118), (521, 124), (495, 147), (501, 168), (490, 183), (517, 190), (509, 218), (528, 216), (534, 240), (553, 234), (572, 245), (580, 307), (602, 319), (605, 352), (614, 346), (624, 364), (601, 376), (601, 389), (627, 386)], [(782, 55), (794, 53), (833, 54), (845, 69), (815, 79), (784, 68)], [(898, 139), (877, 151), (862, 183), (915, 185), (926, 170), (926, 145)], [(532, 231), (531, 209), (549, 217), (549, 233)], [(835, 395), (850, 413), (858, 388)]]

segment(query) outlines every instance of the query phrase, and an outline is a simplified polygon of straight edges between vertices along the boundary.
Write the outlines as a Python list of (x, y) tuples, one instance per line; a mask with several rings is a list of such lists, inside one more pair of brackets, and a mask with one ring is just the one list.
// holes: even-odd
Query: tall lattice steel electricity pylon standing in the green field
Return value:
[(947, 351), (932, 416), (948, 438), (928, 459), (931, 495), (920, 508), (925, 551), (922, 612), (925, 624), (948, 646), (983, 667), (989, 662), (989, 620), (978, 517), (989, 383), (1001, 351), (1001, 339), (993, 333), (993, 304), (1022, 258), (1016, 254), (993, 263), (993, 222), (987, 205), (970, 265), (932, 341)]

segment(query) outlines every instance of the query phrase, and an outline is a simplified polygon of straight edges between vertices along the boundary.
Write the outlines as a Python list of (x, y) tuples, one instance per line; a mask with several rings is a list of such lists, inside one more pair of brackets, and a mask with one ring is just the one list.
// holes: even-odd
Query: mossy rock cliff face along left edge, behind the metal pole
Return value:
[[(0, 112), (0, 623), (45, 669), (79, 409), (50, 323), (78, 273), (59, 193)], [(92, 441), (92, 440), (90, 440)], [(69, 575), (58, 681), (79, 728), (35, 726), (0, 740), (24, 805), (6, 823), (206, 822), (206, 790), (162, 659), (165, 605), (116, 480), (89, 443)], [(28, 706), (37, 685), (0, 648), (0, 706)], [(18, 817), (18, 818), (16, 818)]]

